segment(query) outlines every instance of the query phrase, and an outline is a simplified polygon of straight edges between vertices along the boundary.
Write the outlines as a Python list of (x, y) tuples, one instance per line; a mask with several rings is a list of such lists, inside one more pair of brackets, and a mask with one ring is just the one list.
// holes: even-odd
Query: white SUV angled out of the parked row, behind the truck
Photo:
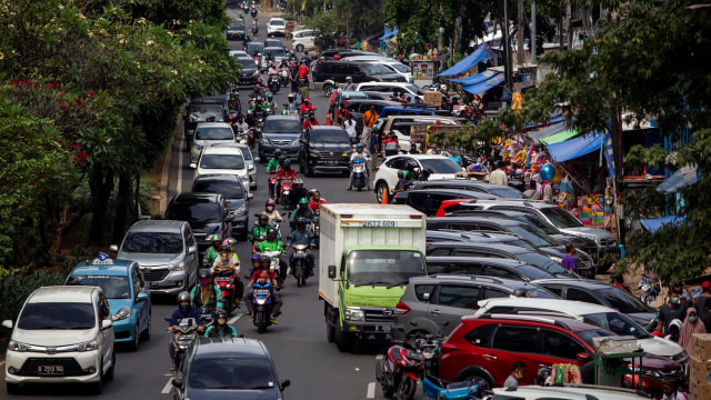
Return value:
[(457, 172), (463, 169), (449, 157), (429, 154), (395, 154), (388, 157), (375, 169), (373, 179), (373, 190), (378, 202), (382, 201), (383, 193), (388, 193), (388, 199), (392, 198), (392, 191), (398, 184), (398, 171), (415, 169), (419, 171), (430, 170), (429, 180), (454, 179)]

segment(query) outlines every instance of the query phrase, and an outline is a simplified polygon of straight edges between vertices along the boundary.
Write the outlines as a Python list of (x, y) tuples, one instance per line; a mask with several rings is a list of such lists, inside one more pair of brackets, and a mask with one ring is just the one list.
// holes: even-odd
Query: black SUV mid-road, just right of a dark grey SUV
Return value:
[(301, 137), (299, 172), (312, 177), (314, 171), (350, 174), (352, 152), (348, 133), (341, 127), (309, 127)]

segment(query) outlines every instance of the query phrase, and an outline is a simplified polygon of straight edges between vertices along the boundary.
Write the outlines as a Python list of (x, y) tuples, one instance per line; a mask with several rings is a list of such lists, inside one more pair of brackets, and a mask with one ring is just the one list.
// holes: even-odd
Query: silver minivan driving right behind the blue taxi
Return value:
[(138, 221), (111, 250), (139, 263), (151, 293), (177, 294), (196, 283), (198, 244), (188, 222)]

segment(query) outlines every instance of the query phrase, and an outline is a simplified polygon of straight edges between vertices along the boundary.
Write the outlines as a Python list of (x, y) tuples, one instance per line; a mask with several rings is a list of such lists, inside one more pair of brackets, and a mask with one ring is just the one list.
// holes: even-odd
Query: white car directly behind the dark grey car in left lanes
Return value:
[(216, 173), (237, 176), (246, 189), (250, 187), (249, 169), (244, 161), (244, 156), (242, 156), (242, 150), (240, 150), (238, 146), (218, 144), (210, 146), (202, 150), (197, 163), (194, 178)]

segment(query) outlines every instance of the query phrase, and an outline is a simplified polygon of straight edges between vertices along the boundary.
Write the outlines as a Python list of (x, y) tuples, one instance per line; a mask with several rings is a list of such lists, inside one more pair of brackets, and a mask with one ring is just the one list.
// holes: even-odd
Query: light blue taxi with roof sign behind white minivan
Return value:
[(141, 339), (150, 338), (151, 298), (138, 262), (100, 253), (74, 267), (64, 284), (101, 288), (111, 309), (117, 343), (137, 350)]

